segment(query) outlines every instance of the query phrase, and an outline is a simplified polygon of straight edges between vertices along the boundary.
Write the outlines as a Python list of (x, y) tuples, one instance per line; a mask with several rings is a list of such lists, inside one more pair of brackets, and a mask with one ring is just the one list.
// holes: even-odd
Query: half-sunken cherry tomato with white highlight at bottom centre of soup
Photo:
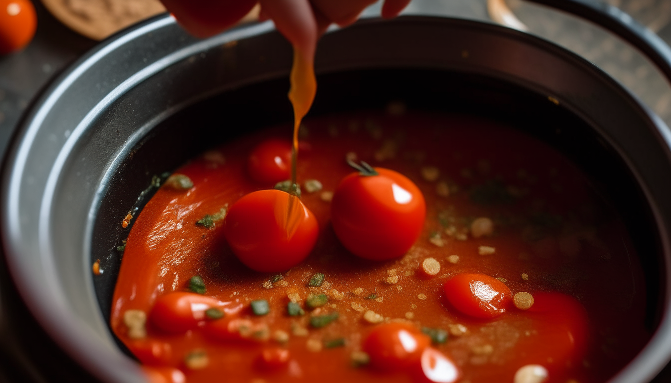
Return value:
[(429, 343), (429, 337), (407, 323), (385, 323), (370, 331), (363, 349), (372, 366), (394, 371), (417, 364)]

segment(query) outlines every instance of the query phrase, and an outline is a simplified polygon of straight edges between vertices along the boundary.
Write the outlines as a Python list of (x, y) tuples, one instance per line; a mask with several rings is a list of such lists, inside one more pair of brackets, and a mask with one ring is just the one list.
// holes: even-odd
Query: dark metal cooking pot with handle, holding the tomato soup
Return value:
[[(546, 3), (611, 28), (671, 78), (668, 47), (613, 9)], [(107, 325), (116, 247), (130, 229), (119, 222), (151, 197), (152, 176), (215, 143), (291, 121), (291, 57), (272, 23), (196, 40), (164, 15), (89, 52), (23, 119), (3, 169), (7, 262), (40, 324), (95, 376), (143, 381)], [(574, 160), (627, 221), (646, 270), (654, 337), (611, 382), (648, 382), (664, 367), (671, 131), (635, 97), (550, 42), (462, 19), (365, 19), (324, 36), (315, 67), (313, 115), (400, 99), (512, 123)], [(104, 272), (93, 278), (97, 259)]]

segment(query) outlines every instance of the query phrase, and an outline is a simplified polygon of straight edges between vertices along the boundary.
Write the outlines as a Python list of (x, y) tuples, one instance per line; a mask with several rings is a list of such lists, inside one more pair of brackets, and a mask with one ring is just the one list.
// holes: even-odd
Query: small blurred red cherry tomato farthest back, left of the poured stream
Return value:
[(247, 170), (260, 184), (274, 185), (291, 176), (291, 142), (266, 140), (252, 150)]

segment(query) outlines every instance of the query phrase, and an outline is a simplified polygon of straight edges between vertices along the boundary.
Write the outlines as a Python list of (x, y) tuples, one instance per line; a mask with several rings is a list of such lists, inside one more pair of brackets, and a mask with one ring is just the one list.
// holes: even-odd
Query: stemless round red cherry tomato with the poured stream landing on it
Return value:
[(311, 211), (280, 190), (259, 190), (242, 197), (223, 223), (223, 234), (238, 259), (258, 272), (296, 266), (312, 251), (318, 232)]

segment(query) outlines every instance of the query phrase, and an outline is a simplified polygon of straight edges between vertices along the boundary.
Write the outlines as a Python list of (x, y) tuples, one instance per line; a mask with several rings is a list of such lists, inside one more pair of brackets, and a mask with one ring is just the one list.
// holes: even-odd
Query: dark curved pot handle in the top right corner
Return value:
[(598, 0), (527, 1), (572, 13), (613, 32), (648, 56), (671, 82), (671, 48), (660, 36), (648, 30), (619, 8)]

